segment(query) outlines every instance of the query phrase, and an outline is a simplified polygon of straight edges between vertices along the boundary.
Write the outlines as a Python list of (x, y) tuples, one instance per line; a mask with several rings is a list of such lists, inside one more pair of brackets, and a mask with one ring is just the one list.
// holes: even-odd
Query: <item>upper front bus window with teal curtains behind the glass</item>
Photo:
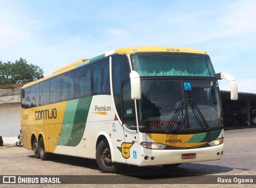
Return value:
[(140, 76), (212, 76), (215, 77), (208, 56), (136, 54), (132, 56), (134, 70)]

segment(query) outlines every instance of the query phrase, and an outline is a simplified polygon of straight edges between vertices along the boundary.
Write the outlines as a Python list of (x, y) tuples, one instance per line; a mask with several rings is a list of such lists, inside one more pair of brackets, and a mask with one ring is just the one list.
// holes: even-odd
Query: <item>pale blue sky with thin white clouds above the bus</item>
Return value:
[(186, 47), (256, 93), (255, 10), (255, 0), (0, 0), (0, 61), (22, 57), (48, 76), (120, 47)]

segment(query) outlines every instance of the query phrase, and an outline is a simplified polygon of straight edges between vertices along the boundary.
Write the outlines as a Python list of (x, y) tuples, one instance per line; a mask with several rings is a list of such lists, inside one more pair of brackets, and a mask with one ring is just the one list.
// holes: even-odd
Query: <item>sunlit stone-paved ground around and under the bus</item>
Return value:
[[(119, 174), (104, 174), (98, 168), (96, 161), (72, 156), (54, 156), (50, 161), (42, 161), (34, 157), (31, 150), (25, 148), (1, 148), (1, 171), (0, 175), (83, 175), (98, 178), (106, 183), (115, 184), (62, 184), (57, 187), (256, 187), (256, 184), (193, 184), (196, 183), (195, 175), (207, 175), (212, 177), (227, 177), (234, 175), (256, 176), (256, 128), (224, 131), (225, 150), (221, 160), (181, 164), (176, 168), (164, 168), (163, 166), (126, 166)], [(95, 176), (93, 176), (95, 175)], [(146, 176), (141, 176), (146, 175)], [(175, 176), (174, 176), (175, 175)], [(190, 178), (191, 184), (160, 184), (159, 181), (168, 183), (170, 179), (177, 179), (180, 182)], [(210, 176), (209, 176), (210, 175)], [(214, 175), (214, 176), (211, 176)], [(106, 178), (107, 177), (107, 178)], [(202, 179), (204, 176), (200, 176)], [(98, 179), (99, 180), (99, 179)], [(150, 184), (118, 184), (119, 182), (146, 182)], [(157, 184), (153, 184), (156, 181)], [(49, 187), (50, 185), (0, 185), (0, 187)]]

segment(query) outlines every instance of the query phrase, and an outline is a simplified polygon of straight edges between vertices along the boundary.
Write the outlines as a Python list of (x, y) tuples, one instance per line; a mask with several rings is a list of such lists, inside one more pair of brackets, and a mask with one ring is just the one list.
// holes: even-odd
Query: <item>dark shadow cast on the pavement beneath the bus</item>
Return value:
[[(30, 155), (28, 157), (35, 158), (34, 155)], [(94, 159), (54, 154), (51, 158), (51, 161), (101, 171), (96, 163), (96, 160)], [(220, 173), (230, 172), (232, 170), (234, 170), (234, 168), (230, 168), (227, 166), (199, 164), (199, 163), (183, 163), (183, 164), (180, 164), (180, 166), (173, 167), (173, 168), (167, 168), (162, 165), (139, 167), (135, 165), (124, 164), (120, 172), (118, 172), (117, 174), (123, 175), (123, 176), (137, 176), (138, 178), (146, 178), (145, 175), (149, 175), (151, 179), (154, 178), (152, 176), (156, 176), (155, 178), (158, 179), (159, 176), (163, 177), (163, 176), (211, 175), (211, 174), (220, 174)], [(248, 169), (244, 169), (244, 170), (248, 170)]]

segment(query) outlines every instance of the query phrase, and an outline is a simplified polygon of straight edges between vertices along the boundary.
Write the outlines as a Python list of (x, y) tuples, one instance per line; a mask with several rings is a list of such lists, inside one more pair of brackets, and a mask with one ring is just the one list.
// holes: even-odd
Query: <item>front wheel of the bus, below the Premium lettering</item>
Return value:
[(116, 173), (122, 167), (122, 164), (112, 162), (110, 147), (106, 139), (100, 141), (96, 148), (96, 162), (100, 169), (106, 173)]

